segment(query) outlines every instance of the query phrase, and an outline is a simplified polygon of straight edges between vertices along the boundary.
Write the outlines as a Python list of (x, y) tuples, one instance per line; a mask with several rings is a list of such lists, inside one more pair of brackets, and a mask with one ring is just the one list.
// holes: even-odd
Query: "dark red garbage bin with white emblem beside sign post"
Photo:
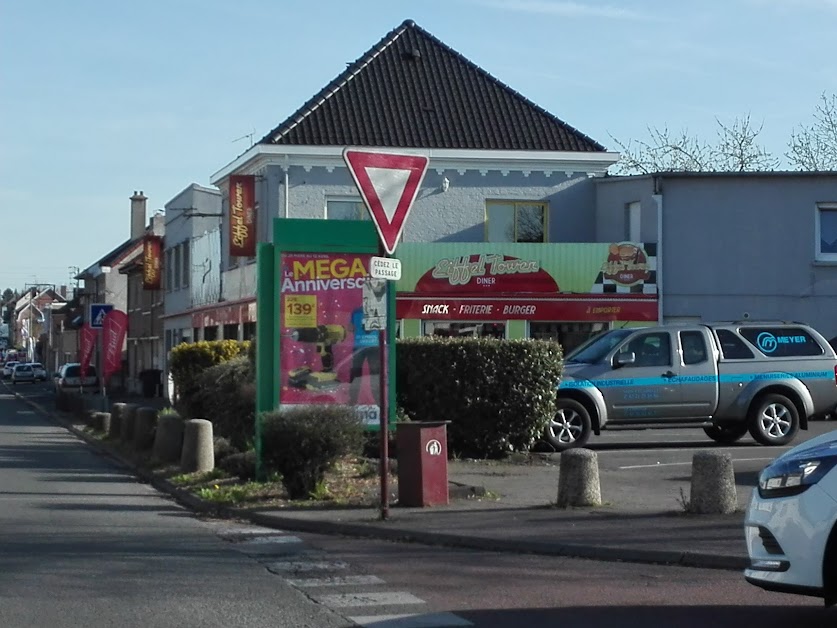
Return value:
[(399, 506), (448, 504), (448, 423), (407, 421), (396, 425)]

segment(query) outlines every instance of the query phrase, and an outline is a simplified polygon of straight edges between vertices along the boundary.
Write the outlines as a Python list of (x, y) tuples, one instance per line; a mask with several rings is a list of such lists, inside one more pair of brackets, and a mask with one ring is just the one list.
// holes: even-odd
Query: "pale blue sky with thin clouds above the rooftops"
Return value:
[(615, 149), (837, 92), (837, 0), (0, 0), (0, 290), (67, 283), (405, 19)]

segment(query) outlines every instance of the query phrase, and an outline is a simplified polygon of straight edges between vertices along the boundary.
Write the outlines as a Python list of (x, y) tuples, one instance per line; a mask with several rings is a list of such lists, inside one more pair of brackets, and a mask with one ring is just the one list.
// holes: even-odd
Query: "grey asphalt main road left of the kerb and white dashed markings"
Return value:
[(218, 530), (0, 394), (3, 628), (352, 625)]

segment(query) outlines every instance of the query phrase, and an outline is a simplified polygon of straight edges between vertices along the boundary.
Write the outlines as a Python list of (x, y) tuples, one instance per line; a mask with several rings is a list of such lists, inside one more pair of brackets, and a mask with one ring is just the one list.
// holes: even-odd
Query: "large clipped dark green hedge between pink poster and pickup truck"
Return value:
[(555, 413), (563, 364), (557, 342), (411, 338), (397, 351), (399, 405), (415, 421), (451, 421), (454, 454), (528, 450)]

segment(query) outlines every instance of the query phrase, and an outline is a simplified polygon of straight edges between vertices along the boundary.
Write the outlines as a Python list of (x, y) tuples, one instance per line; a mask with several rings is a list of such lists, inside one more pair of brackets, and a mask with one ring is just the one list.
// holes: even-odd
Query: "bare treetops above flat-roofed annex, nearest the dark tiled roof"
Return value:
[(667, 127), (649, 127), (649, 142), (611, 139), (622, 156), (614, 166), (615, 174), (650, 174), (652, 172), (755, 172), (774, 170), (779, 160), (759, 143), (762, 126), (755, 128), (749, 114), (727, 126), (720, 120), (716, 144), (709, 144), (687, 131), (672, 134)]

